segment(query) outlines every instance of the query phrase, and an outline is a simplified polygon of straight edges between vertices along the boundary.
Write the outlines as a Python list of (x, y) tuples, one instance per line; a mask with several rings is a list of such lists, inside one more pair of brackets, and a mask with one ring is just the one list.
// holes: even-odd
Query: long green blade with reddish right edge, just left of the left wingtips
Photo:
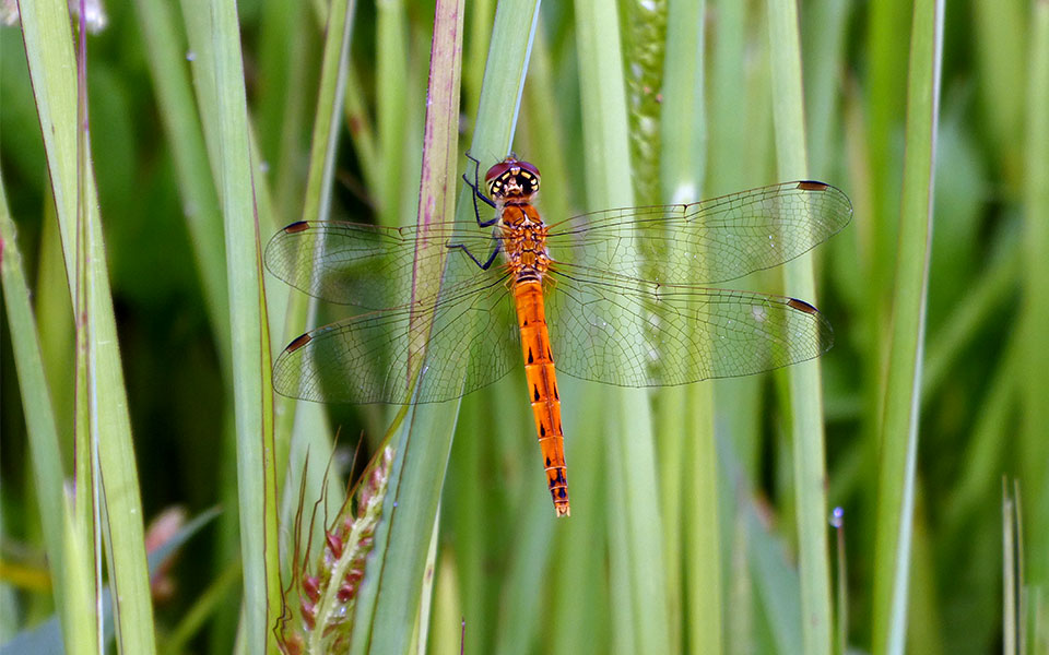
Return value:
[[(211, 45), (215, 104), (204, 108), (217, 139), (219, 188), (225, 223), (226, 279), (233, 331), (245, 635), (251, 653), (275, 647), (281, 609), (273, 449), (270, 341), (261, 287), (261, 245), (244, 88), (243, 55), (233, 2), (216, 2), (200, 26)], [(207, 76), (207, 75), (205, 75)]]

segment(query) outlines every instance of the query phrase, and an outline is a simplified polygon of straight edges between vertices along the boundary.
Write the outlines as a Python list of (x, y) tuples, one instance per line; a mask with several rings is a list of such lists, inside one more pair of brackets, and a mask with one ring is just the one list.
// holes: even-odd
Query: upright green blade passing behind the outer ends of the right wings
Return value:
[[(801, 80), (798, 11), (790, 0), (768, 2), (773, 62), (773, 118), (779, 178), (808, 178), (809, 162)], [(812, 255), (783, 266), (788, 295), (815, 300)], [(801, 569), (801, 616), (804, 652), (830, 653), (830, 565), (827, 551), (826, 453), (823, 432), (823, 389), (818, 361), (790, 367), (791, 433), (793, 436), (794, 508)]]

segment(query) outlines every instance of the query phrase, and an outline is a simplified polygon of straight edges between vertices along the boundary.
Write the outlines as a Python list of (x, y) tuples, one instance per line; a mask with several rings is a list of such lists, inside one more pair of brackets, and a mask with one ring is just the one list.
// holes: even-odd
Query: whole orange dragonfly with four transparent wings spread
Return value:
[[(298, 222), (270, 240), (264, 258), (276, 277), (366, 310), (292, 341), (274, 364), (279, 393), (438, 403), (523, 361), (547, 487), (556, 515), (567, 516), (557, 372), (625, 388), (676, 385), (768, 371), (830, 347), (830, 325), (809, 302), (711, 285), (782, 264), (840, 231), (852, 205), (837, 188), (792, 181), (547, 225), (534, 204), (533, 164), (510, 155), (488, 168), (482, 189), (470, 158), (473, 180), (463, 179), (474, 222), (425, 230)], [(440, 284), (420, 297), (413, 271), (433, 258)], [(432, 323), (413, 384), (421, 308)]]

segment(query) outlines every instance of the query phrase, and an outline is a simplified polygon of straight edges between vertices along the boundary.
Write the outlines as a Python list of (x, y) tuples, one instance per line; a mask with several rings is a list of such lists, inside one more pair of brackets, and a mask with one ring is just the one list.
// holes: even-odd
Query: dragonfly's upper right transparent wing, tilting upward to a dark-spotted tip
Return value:
[(852, 217), (840, 190), (785, 182), (693, 204), (626, 207), (550, 227), (553, 259), (658, 283), (712, 284), (777, 266)]

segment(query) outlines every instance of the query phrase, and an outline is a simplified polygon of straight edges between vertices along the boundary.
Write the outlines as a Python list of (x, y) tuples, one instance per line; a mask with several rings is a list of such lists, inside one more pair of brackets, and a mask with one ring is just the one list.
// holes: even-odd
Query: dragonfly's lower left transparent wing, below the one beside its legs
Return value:
[[(505, 276), (504, 276), (505, 277)], [(273, 367), (273, 386), (318, 402), (406, 403), (411, 307), (362, 314), (308, 332)], [(505, 279), (444, 295), (434, 309), (417, 402), (462, 396), (521, 361)]]

